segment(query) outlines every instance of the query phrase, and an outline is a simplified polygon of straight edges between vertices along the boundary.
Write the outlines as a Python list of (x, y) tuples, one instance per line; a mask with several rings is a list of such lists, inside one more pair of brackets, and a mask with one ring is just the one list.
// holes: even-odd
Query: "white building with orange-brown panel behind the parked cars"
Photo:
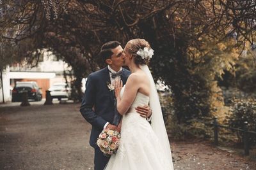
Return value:
[(64, 71), (70, 72), (71, 67), (47, 50), (44, 50), (40, 56), (36, 67), (26, 63), (7, 66), (2, 73), (3, 82), (0, 83), (0, 103), (12, 101), (12, 89), (17, 81), (36, 81), (42, 88), (43, 98), (45, 98), (45, 90), (48, 90), (53, 83), (66, 82), (66, 80), (70, 82), (70, 78), (63, 77)]

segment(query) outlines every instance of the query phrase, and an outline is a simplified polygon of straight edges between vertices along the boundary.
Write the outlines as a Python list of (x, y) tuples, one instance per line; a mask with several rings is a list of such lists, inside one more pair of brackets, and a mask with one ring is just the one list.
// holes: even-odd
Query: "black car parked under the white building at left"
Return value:
[(28, 92), (28, 99), (42, 100), (41, 88), (35, 81), (17, 81), (12, 90), (12, 102), (21, 101), (23, 92)]

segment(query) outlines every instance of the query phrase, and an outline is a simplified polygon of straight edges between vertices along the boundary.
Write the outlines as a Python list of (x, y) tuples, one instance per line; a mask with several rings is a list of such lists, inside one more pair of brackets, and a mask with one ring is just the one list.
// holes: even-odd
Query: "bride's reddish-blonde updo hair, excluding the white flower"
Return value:
[(150, 45), (148, 41), (145, 39), (131, 39), (128, 41), (128, 43), (125, 45), (125, 53), (129, 53), (134, 57), (134, 63), (137, 65), (143, 65), (149, 63), (149, 59), (142, 59), (140, 55), (137, 54), (138, 50), (144, 49), (145, 47), (150, 48)]

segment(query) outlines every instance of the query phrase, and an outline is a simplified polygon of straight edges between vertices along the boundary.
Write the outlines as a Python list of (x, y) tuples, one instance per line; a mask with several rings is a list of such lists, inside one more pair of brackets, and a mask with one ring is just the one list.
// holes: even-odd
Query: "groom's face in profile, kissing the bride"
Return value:
[(121, 67), (124, 66), (124, 49), (122, 46), (117, 46), (112, 49), (113, 55), (111, 55), (111, 66)]

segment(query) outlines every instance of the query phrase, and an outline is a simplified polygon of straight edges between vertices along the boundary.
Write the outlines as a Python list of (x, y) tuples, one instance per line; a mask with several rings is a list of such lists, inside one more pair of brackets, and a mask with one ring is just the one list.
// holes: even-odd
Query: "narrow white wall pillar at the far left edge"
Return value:
[(3, 90), (4, 90), (4, 102), (11, 101), (10, 95), (10, 67), (7, 66), (5, 70), (3, 70), (3, 87), (0, 85), (0, 103), (3, 103)]

